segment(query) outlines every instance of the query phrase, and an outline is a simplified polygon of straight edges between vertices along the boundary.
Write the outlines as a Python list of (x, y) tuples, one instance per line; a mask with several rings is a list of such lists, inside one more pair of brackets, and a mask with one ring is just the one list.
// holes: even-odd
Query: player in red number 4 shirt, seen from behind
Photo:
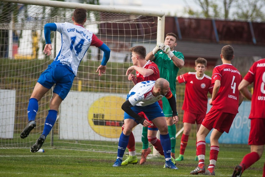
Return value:
[[(229, 132), (232, 122), (238, 113), (238, 107), (243, 101), (243, 96), (238, 91), (238, 85), (242, 80), (239, 71), (231, 64), (234, 58), (234, 49), (231, 45), (225, 45), (221, 50), (222, 65), (216, 66), (212, 72), (212, 105), (210, 111), (202, 121), (202, 125), (197, 133), (197, 155), (198, 167), (190, 174), (204, 173), (205, 175), (215, 175), (214, 167), (219, 152), (218, 139), (223, 132)], [(205, 170), (205, 137), (211, 131), (210, 165)]]

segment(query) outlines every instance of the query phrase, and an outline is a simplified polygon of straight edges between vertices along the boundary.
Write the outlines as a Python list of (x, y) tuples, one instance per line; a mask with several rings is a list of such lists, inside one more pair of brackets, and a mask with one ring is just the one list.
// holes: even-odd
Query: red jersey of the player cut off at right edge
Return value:
[(265, 119), (265, 59), (253, 63), (244, 79), (254, 82), (249, 118)]

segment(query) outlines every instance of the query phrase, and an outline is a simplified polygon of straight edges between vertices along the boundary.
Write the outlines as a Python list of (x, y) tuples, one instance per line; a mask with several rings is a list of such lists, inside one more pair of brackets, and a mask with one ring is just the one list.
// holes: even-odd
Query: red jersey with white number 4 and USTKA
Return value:
[(242, 80), (242, 75), (233, 65), (223, 64), (216, 66), (212, 71), (212, 84), (216, 80), (221, 81), (221, 86), (215, 100), (212, 101), (212, 106), (221, 112), (237, 114), (239, 104), (238, 85)]

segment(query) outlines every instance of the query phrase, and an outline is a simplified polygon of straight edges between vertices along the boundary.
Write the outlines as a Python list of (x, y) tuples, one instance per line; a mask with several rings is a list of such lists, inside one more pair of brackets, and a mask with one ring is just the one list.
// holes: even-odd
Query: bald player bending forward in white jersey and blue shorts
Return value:
[(165, 116), (157, 101), (166, 97), (173, 110), (173, 122), (176, 124), (179, 121), (177, 116), (176, 101), (169, 88), (169, 82), (163, 78), (156, 81), (144, 81), (136, 84), (130, 90), (127, 100), (123, 103), (124, 110), (124, 129), (119, 138), (118, 155), (114, 167), (121, 166), (124, 151), (128, 145), (129, 136), (133, 127), (141, 123), (144, 127), (151, 125), (146, 119), (138, 115), (139, 112), (144, 112), (146, 117), (151, 120), (160, 131), (160, 141), (165, 155), (165, 167), (178, 169), (171, 161), (171, 143), (168, 134), (168, 128), (165, 121)]

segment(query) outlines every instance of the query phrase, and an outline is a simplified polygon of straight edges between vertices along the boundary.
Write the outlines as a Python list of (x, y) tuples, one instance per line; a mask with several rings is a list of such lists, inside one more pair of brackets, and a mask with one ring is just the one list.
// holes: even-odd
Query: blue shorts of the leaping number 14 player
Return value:
[(64, 100), (72, 87), (74, 78), (75, 74), (66, 67), (49, 65), (48, 68), (40, 74), (40, 78), (37, 82), (47, 89), (51, 89), (53, 84), (55, 84), (53, 92)]

